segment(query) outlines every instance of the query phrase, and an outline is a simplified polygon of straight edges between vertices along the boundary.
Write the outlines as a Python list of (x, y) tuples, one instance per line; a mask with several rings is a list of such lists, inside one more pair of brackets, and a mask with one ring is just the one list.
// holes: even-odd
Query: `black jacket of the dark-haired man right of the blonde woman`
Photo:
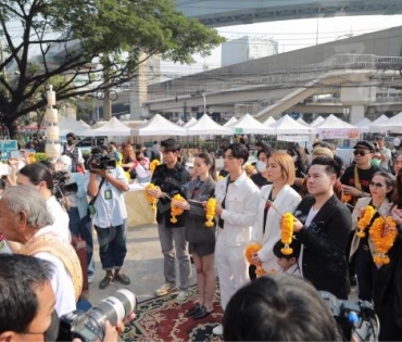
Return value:
[[(294, 212), (305, 223), (315, 199), (304, 198)], [(329, 291), (339, 299), (348, 299), (350, 283), (346, 249), (352, 217), (347, 206), (332, 195), (318, 211), (309, 227), (294, 236), (303, 244), (302, 270), (304, 278), (321, 291)]]

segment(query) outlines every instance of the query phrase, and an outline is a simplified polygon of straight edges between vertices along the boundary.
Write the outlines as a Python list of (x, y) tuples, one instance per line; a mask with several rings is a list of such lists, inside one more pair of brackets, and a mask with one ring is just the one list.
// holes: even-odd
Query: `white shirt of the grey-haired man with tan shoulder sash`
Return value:
[[(51, 226), (43, 227), (35, 233), (35, 237), (49, 231), (54, 231)], [(63, 262), (48, 252), (40, 252), (34, 256), (48, 261), (54, 266), (51, 284), (55, 294), (55, 311), (58, 312), (59, 317), (75, 311), (74, 284)]]

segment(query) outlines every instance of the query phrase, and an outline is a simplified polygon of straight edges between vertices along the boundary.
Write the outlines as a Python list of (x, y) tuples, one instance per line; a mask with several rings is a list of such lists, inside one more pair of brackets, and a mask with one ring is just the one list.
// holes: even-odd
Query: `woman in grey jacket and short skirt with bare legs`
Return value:
[(186, 218), (186, 240), (189, 243), (189, 253), (192, 254), (197, 269), (197, 284), (199, 299), (187, 313), (194, 319), (206, 317), (213, 312), (215, 293), (215, 226), (205, 226), (204, 202), (214, 197), (216, 183), (216, 168), (214, 157), (206, 152), (194, 159), (193, 173), (196, 178), (187, 183), (187, 201), (172, 203), (188, 211)]

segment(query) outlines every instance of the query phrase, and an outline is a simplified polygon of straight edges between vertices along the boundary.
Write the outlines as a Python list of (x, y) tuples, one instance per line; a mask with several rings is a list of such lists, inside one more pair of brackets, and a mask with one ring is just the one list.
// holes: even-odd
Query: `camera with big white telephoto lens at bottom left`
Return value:
[(86, 313), (77, 309), (62, 316), (58, 341), (73, 341), (75, 338), (81, 341), (103, 341), (105, 321), (115, 326), (118, 320), (131, 314), (135, 307), (135, 294), (121, 289)]

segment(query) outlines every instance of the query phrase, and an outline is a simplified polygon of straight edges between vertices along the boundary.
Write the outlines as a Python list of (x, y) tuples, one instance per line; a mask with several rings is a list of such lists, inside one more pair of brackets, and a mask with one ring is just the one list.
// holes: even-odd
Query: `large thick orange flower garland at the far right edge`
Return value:
[[(387, 232), (385, 231), (386, 226), (391, 227)], [(372, 228), (369, 229), (369, 236), (376, 249), (376, 252), (373, 255), (373, 259), (376, 265), (389, 264), (390, 259), (387, 253), (397, 239), (398, 230), (395, 227), (397, 224), (392, 219), (392, 216), (387, 216), (386, 220), (384, 220), (382, 217), (378, 217), (374, 220)]]

